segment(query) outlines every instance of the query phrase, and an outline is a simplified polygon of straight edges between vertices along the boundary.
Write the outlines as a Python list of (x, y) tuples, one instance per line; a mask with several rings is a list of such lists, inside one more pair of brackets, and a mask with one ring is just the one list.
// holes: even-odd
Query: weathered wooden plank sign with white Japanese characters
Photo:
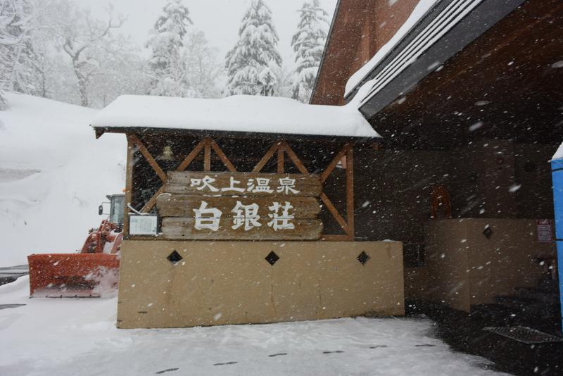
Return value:
[(156, 205), (167, 239), (319, 239), (319, 175), (170, 172)]

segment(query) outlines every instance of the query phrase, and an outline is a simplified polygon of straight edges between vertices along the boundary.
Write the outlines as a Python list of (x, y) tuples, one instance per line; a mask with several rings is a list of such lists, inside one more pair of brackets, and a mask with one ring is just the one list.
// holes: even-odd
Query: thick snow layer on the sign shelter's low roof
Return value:
[(302, 104), (272, 96), (191, 99), (122, 95), (103, 108), (91, 125), (380, 137), (355, 108)]

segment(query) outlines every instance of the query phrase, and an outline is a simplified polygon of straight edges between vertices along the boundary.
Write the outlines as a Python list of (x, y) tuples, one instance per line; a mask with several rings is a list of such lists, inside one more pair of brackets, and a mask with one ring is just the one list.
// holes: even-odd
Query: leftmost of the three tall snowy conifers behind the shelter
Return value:
[(167, 0), (158, 17), (147, 47), (152, 50), (151, 94), (192, 96), (186, 81), (186, 64), (182, 56), (184, 36), (191, 25), (189, 11), (182, 0)]

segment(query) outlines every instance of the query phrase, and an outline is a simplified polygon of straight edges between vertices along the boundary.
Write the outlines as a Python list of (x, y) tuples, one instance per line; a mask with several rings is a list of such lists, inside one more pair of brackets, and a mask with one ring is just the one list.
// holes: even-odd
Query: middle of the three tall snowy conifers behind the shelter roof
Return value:
[(273, 95), (276, 70), (281, 67), (279, 37), (272, 11), (262, 0), (252, 0), (239, 29), (239, 41), (227, 54), (224, 94)]

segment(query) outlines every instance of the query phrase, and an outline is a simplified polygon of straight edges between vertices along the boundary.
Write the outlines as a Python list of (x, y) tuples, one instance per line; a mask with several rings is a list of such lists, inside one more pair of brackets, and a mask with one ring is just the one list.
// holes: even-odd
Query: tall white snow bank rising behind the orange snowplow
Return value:
[(125, 137), (96, 140), (95, 110), (8, 94), (0, 111), (0, 266), (30, 253), (72, 252), (125, 187)]

